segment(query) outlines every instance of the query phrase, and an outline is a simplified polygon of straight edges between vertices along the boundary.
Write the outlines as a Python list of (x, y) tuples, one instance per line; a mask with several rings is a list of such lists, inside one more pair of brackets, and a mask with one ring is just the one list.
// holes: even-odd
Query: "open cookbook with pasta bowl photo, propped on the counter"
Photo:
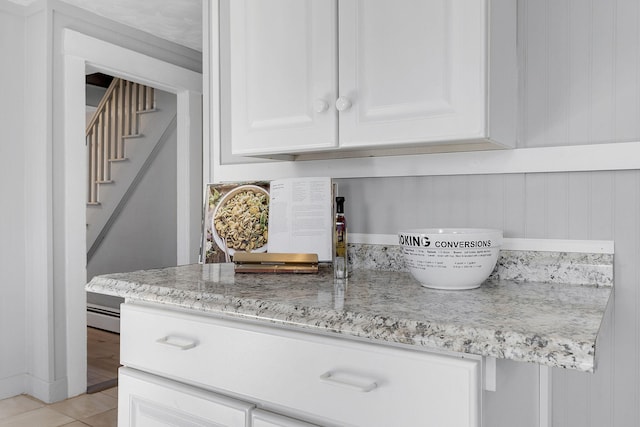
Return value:
[(236, 252), (331, 261), (334, 187), (328, 177), (207, 185), (203, 262), (230, 262)]

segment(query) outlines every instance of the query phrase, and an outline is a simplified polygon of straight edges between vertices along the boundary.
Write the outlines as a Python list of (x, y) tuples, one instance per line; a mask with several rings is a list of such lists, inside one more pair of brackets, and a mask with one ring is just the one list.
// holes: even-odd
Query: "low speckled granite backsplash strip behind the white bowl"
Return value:
[[(407, 271), (398, 245), (349, 245), (355, 270)], [(501, 250), (490, 279), (613, 286), (613, 255)]]

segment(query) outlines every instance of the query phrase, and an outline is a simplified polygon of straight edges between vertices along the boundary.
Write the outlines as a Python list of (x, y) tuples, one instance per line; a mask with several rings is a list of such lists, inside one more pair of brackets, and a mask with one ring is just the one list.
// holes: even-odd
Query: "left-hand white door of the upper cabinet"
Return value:
[(233, 154), (337, 147), (335, 0), (229, 5)]

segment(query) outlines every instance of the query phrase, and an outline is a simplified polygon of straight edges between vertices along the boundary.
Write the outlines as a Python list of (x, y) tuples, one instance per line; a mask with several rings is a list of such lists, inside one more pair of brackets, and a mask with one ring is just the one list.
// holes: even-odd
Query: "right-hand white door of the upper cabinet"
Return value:
[(485, 138), (486, 20), (479, 0), (341, 0), (341, 147)]

